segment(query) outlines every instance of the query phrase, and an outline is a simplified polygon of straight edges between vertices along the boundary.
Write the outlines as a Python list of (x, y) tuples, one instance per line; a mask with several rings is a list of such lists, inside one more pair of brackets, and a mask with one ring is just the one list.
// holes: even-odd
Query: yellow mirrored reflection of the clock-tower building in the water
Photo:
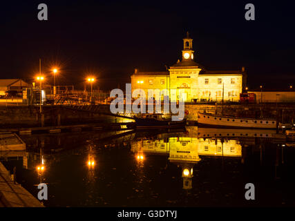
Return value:
[(131, 143), (133, 153), (169, 155), (169, 161), (182, 168), (183, 189), (192, 189), (193, 165), (199, 155), (241, 157), (238, 140), (204, 139), (196, 137), (169, 137), (168, 139), (138, 139)]

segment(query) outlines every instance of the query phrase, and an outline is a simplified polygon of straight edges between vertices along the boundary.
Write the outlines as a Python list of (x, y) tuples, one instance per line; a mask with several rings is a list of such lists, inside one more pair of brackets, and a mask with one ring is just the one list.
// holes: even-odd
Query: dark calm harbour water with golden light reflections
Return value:
[[(294, 206), (295, 146), (273, 133), (191, 126), (23, 136), (25, 160), (6, 155), (3, 164), (17, 166), (17, 182), (36, 197), (48, 184), (45, 206)], [(247, 183), (255, 200), (245, 200)]]

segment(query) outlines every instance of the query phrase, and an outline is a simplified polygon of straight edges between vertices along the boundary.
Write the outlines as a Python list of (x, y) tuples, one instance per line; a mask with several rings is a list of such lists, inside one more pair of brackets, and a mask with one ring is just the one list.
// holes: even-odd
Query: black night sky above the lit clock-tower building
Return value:
[[(195, 61), (207, 70), (245, 66), (250, 88), (287, 88), (295, 82), (290, 2), (3, 1), (0, 77), (32, 79), (41, 57), (44, 72), (61, 67), (60, 84), (79, 87), (93, 73), (100, 88), (116, 88), (134, 68), (174, 64), (189, 31)], [(48, 21), (37, 19), (39, 3), (47, 4)], [(256, 21), (245, 20), (246, 3), (254, 3)]]

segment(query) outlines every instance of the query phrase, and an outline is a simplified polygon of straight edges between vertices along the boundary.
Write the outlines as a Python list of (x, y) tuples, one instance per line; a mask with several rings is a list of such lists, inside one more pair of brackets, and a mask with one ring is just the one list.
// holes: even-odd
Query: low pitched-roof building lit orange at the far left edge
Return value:
[(8, 90), (16, 90), (21, 93), (23, 88), (28, 88), (29, 84), (22, 79), (0, 79), (0, 95), (6, 95)]

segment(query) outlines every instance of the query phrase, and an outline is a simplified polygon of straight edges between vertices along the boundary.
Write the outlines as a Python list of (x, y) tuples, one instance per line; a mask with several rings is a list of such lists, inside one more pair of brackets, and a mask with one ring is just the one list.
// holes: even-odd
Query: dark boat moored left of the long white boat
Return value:
[(181, 127), (187, 124), (186, 119), (180, 121), (172, 121), (171, 118), (164, 118), (162, 114), (142, 114), (135, 116), (137, 129), (146, 128), (172, 128)]

